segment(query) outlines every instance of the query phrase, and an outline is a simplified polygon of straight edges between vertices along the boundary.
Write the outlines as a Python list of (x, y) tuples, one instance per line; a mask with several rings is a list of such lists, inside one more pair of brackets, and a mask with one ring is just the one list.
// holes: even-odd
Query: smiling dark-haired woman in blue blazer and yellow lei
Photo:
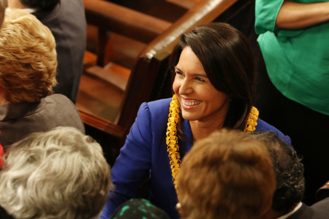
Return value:
[(215, 130), (250, 125), (246, 130), (272, 130), (290, 144), (278, 129), (257, 121), (252, 61), (248, 39), (228, 24), (200, 25), (181, 35), (170, 58), (175, 95), (140, 106), (112, 168), (115, 191), (101, 218), (136, 197), (145, 176), (150, 177), (151, 203), (179, 218), (174, 185), (180, 161), (194, 141)]

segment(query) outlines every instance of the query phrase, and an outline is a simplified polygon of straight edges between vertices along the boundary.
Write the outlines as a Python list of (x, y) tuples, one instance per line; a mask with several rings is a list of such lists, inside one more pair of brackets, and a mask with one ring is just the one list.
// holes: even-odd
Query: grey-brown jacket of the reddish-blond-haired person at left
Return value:
[(75, 105), (62, 94), (52, 94), (34, 103), (7, 103), (0, 106), (0, 143), (9, 145), (33, 132), (45, 132), (58, 126), (70, 126), (84, 133), (84, 125)]

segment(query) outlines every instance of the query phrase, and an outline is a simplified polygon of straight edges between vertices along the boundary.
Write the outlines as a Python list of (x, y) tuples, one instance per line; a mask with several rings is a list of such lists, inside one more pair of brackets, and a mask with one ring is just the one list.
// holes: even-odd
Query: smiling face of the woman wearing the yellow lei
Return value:
[(229, 97), (214, 88), (197, 56), (185, 47), (175, 66), (173, 90), (185, 120), (214, 122), (225, 118)]

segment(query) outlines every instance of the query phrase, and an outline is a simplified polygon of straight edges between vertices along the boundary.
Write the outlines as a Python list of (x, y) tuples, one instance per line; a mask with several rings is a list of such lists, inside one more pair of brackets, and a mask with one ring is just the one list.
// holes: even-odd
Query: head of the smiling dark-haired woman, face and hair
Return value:
[(255, 85), (250, 44), (242, 32), (225, 23), (199, 25), (181, 35), (170, 68), (185, 119), (224, 114), (224, 127), (244, 129)]

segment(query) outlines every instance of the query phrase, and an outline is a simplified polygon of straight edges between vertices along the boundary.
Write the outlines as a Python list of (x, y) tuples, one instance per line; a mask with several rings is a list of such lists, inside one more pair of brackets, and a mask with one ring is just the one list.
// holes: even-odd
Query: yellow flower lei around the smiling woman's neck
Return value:
[[(166, 132), (166, 144), (167, 151), (169, 152), (170, 168), (173, 176), (173, 182), (175, 189), (177, 191), (177, 182), (176, 177), (179, 172), (180, 166), (180, 155), (178, 152), (178, 138), (177, 133), (177, 124), (179, 122), (179, 105), (176, 98), (176, 95), (173, 95), (172, 101), (170, 102), (169, 108), (169, 118), (167, 123), (167, 132)], [(257, 120), (259, 116), (259, 111), (255, 107), (252, 107), (247, 118), (247, 123), (244, 131), (254, 131), (257, 126)], [(178, 196), (179, 199), (179, 196)]]

